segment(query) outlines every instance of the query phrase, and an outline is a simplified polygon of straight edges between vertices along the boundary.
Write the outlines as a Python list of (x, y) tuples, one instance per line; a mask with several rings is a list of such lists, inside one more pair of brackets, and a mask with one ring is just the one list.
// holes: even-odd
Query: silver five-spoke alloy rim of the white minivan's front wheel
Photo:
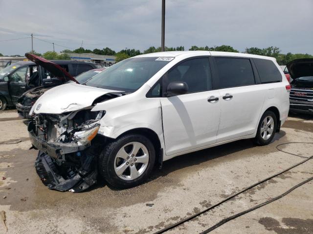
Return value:
[(141, 176), (147, 169), (149, 152), (140, 142), (125, 144), (117, 152), (114, 159), (114, 170), (118, 177), (124, 180), (133, 180)]

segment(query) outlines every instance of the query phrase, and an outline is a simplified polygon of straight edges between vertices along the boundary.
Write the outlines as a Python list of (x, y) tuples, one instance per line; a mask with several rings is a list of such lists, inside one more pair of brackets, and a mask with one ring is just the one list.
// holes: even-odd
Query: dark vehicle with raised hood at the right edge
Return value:
[(295, 59), (287, 64), (290, 72), (290, 112), (313, 114), (313, 59)]

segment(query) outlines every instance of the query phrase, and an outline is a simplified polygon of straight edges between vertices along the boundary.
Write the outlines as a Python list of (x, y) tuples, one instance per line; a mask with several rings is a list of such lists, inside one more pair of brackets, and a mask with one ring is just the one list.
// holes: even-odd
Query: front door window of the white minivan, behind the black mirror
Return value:
[(189, 59), (179, 63), (164, 75), (166, 85), (173, 81), (186, 82), (188, 93), (212, 89), (211, 71), (208, 58)]

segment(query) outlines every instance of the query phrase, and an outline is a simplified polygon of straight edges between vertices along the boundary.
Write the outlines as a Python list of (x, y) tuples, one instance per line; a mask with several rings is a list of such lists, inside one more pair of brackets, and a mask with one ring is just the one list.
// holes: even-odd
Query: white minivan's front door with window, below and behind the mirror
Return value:
[(212, 90), (208, 58), (180, 62), (163, 76), (163, 89), (173, 81), (188, 85), (188, 93), (161, 100), (166, 155), (216, 142), (220, 121), (220, 94)]

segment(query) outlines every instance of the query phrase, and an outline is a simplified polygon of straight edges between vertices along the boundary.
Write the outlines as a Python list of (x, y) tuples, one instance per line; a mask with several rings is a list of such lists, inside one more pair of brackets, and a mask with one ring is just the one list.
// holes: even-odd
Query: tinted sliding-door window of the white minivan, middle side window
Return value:
[(220, 89), (255, 84), (249, 59), (215, 58)]

